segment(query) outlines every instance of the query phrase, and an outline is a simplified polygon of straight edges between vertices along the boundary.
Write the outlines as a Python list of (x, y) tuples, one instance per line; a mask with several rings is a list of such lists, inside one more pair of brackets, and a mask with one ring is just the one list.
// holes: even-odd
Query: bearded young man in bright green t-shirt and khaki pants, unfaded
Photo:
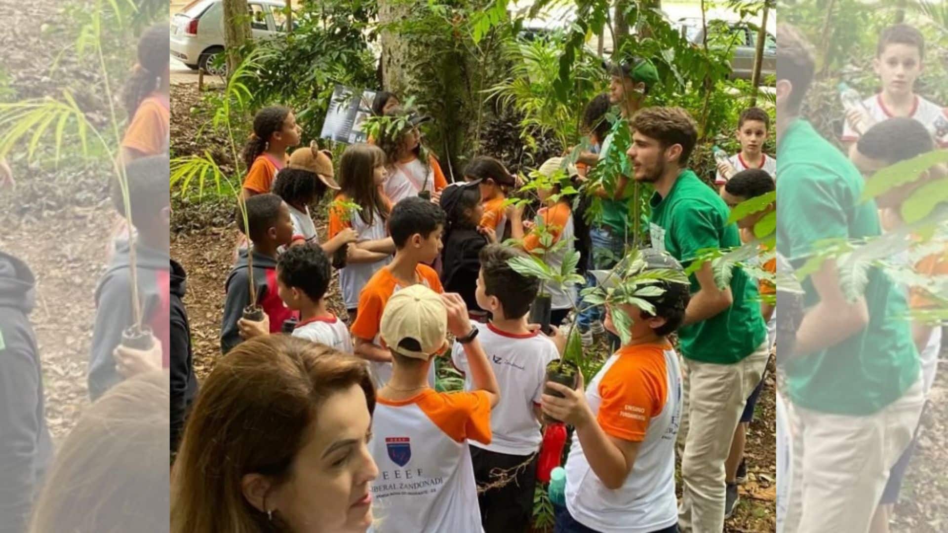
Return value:
[[(690, 265), (706, 248), (740, 246), (738, 227), (718, 193), (687, 168), (698, 138), (680, 107), (649, 107), (631, 122), (633, 178), (650, 183), (652, 248)], [(720, 533), (724, 526), (724, 461), (747, 396), (767, 364), (767, 328), (757, 284), (737, 267), (729, 285), (715, 284), (710, 263), (690, 276), (691, 301), (678, 331), (684, 356), (687, 427), (679, 525)]]

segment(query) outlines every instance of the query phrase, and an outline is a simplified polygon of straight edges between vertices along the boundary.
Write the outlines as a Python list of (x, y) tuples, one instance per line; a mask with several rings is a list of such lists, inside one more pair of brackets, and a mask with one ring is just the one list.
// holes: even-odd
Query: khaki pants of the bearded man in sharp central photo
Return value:
[(724, 461), (769, 355), (765, 341), (734, 364), (684, 359), (682, 412), (687, 419), (679, 432), (686, 434), (678, 522), (685, 532), (720, 533), (724, 528)]

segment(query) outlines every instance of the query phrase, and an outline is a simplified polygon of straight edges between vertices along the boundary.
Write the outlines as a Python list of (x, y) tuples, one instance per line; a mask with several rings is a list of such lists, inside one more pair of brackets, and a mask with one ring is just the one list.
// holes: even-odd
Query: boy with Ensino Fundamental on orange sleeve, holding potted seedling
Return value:
[[(634, 286), (633, 280), (650, 270), (674, 270), (680, 279), (647, 285), (661, 294), (636, 298), (638, 303), (611, 303), (606, 328), (628, 340), (586, 390), (580, 375), (575, 390), (546, 383), (562, 397), (542, 395), (543, 413), (575, 428), (566, 460), (566, 507), (556, 510), (557, 533), (678, 531), (675, 435), (682, 379), (678, 355), (666, 338), (684, 321), (688, 284), (669, 255), (654, 249), (641, 253), (644, 265), (640, 257), (630, 257), (593, 275), (604, 288), (626, 294), (646, 286)], [(617, 310), (631, 319), (627, 332), (616, 323)]]

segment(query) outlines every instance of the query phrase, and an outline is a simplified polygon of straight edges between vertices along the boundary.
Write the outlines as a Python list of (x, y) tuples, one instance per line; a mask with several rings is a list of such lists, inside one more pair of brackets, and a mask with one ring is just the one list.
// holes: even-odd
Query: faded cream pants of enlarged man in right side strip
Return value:
[(867, 416), (793, 406), (793, 479), (784, 533), (866, 533), (889, 469), (912, 440), (924, 404), (921, 378)]

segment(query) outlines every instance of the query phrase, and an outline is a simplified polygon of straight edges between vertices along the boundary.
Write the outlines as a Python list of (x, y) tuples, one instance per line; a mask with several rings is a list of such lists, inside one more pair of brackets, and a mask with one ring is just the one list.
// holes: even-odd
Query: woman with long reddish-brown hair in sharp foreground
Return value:
[(374, 403), (364, 361), (283, 335), (239, 344), (191, 411), (171, 531), (364, 532)]

